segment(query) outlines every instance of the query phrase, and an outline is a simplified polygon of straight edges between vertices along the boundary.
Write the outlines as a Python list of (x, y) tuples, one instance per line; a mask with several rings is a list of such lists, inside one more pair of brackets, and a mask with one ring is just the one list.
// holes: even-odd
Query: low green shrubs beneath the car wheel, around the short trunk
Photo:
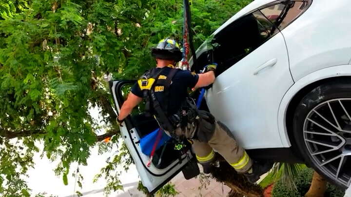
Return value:
[[(297, 190), (289, 189), (282, 181), (274, 184), (273, 197), (303, 197), (310, 188), (312, 181), (313, 169), (303, 168), (294, 179)], [(344, 191), (328, 183), (325, 197), (343, 197)]]

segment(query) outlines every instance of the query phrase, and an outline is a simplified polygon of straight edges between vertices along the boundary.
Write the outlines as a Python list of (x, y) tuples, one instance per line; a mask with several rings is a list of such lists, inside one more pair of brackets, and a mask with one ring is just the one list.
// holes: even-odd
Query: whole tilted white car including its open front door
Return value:
[[(192, 67), (218, 63), (205, 102), (252, 158), (306, 163), (344, 188), (351, 182), (350, 8), (350, 0), (254, 0), (215, 31), (218, 47), (196, 51)], [(117, 111), (132, 83), (111, 82)], [(180, 170), (187, 178), (198, 172), (189, 145), (166, 145), (146, 166), (138, 143), (155, 128), (142, 113), (121, 127), (150, 192)]]

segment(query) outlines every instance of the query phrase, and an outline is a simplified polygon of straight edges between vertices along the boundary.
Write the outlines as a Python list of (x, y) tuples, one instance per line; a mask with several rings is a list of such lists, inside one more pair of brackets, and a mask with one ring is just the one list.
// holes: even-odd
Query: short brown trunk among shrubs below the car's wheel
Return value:
[(314, 171), (310, 189), (305, 194), (305, 197), (324, 197), (326, 189), (327, 181), (324, 179), (324, 177)]

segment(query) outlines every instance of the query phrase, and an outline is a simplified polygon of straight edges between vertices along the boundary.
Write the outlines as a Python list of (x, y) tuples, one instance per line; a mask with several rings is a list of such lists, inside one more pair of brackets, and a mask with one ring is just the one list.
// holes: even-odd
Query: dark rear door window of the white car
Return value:
[(255, 11), (243, 16), (215, 35), (214, 60), (218, 64), (216, 75), (257, 49), (278, 31), (274, 25)]

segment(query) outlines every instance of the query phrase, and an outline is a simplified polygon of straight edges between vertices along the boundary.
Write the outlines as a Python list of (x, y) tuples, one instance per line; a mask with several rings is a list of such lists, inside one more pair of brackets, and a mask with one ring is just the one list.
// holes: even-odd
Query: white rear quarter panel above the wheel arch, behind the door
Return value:
[(294, 81), (316, 70), (349, 64), (351, 0), (341, 1), (314, 0), (302, 16), (282, 30)]

